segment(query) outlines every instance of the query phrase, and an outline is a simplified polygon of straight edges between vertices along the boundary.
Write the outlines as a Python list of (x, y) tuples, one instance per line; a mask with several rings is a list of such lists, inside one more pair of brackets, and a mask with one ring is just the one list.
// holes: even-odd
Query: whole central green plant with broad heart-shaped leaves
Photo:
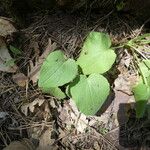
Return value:
[(94, 115), (110, 91), (107, 79), (101, 74), (111, 68), (115, 59), (109, 36), (91, 32), (77, 61), (67, 59), (60, 50), (50, 53), (41, 67), (38, 85), (43, 92), (59, 99), (69, 96), (82, 113)]

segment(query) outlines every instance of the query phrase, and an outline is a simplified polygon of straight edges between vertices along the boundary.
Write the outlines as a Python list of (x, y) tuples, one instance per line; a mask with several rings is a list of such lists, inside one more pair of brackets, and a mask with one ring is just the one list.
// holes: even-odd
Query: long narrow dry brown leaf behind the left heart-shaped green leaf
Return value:
[(45, 58), (48, 56), (48, 54), (55, 50), (56, 47), (56, 43), (52, 43), (51, 39), (48, 40), (48, 45), (44, 51), (44, 53), (37, 59), (37, 61), (35, 62), (35, 65), (33, 65), (33, 62), (30, 61), (30, 71), (29, 71), (29, 79), (33, 82), (36, 83), (38, 78), (39, 78), (39, 71), (41, 68), (42, 63), (44, 62)]

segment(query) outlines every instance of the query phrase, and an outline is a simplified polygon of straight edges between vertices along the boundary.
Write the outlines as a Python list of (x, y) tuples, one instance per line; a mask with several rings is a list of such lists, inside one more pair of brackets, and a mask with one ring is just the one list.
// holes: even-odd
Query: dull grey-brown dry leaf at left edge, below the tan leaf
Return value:
[(17, 68), (8, 52), (5, 41), (0, 37), (0, 71), (14, 73)]

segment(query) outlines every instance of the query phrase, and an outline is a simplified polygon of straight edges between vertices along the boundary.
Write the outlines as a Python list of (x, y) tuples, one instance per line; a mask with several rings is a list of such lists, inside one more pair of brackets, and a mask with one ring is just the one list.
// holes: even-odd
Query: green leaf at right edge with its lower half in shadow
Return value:
[(136, 100), (136, 115), (137, 118), (141, 118), (144, 115), (147, 102), (150, 99), (150, 87), (143, 83), (139, 83), (132, 91)]

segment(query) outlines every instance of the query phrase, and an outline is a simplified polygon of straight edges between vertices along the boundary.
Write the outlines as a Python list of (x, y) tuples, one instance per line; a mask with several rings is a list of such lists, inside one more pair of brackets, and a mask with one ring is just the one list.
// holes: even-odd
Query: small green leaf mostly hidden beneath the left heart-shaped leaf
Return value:
[(58, 99), (64, 99), (66, 97), (65, 93), (61, 91), (60, 88), (43, 88), (42, 89), (43, 93), (51, 94), (55, 96)]

